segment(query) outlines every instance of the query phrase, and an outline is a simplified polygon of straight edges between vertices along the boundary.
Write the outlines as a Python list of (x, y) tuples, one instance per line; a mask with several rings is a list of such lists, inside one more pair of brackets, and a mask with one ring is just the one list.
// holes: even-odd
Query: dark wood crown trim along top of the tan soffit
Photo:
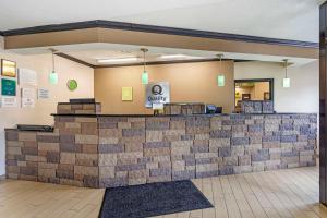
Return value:
[(249, 36), (249, 35), (239, 35), (239, 34), (227, 34), (227, 33), (196, 31), (196, 29), (187, 29), (187, 28), (174, 28), (174, 27), (167, 27), (167, 26), (144, 25), (144, 24), (102, 21), (102, 20), (17, 28), (17, 29), (4, 31), (2, 32), (2, 34), (3, 36), (17, 36), (17, 35), (28, 35), (28, 34), (50, 33), (50, 32), (84, 29), (84, 28), (123, 29), (123, 31), (191, 36), (191, 37), (201, 37), (201, 38), (246, 41), (246, 43), (256, 43), (256, 44), (269, 44), (269, 45), (279, 45), (279, 46), (318, 48), (318, 44), (312, 41), (279, 39), (279, 38)]

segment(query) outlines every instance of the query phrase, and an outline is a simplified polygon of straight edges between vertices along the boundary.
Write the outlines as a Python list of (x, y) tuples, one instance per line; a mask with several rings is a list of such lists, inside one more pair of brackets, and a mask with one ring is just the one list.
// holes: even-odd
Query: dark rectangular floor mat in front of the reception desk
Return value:
[(107, 189), (100, 218), (142, 218), (213, 207), (191, 181)]

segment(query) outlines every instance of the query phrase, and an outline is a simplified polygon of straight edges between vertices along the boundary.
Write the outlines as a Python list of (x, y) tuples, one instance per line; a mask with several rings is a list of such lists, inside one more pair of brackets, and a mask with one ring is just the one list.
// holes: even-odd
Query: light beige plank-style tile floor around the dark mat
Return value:
[[(215, 208), (160, 218), (326, 217), (318, 204), (318, 168), (196, 179)], [(0, 182), (0, 218), (98, 217), (104, 190), (27, 181)]]

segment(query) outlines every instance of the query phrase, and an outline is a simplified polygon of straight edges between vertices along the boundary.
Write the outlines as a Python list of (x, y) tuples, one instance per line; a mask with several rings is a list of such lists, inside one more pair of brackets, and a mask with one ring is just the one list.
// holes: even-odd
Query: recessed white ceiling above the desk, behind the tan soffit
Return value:
[[(90, 63), (93, 65), (101, 65), (101, 63), (97, 62), (97, 60), (101, 60), (101, 59), (121, 59), (121, 58), (131, 58), (131, 57), (135, 57), (137, 58), (137, 60), (132, 62), (126, 62), (126, 63), (143, 62), (143, 53), (140, 50), (142, 46), (95, 43), (95, 44), (55, 46), (52, 48), (60, 52), (66, 53), (71, 57)], [(217, 58), (218, 53), (222, 53), (225, 59), (233, 59), (233, 60), (282, 62), (283, 59), (289, 59), (291, 63), (294, 63), (293, 65), (302, 65), (316, 60), (316, 59), (294, 58), (294, 57), (231, 53), (231, 52), (219, 52), (219, 51), (216, 52), (216, 51), (177, 49), (177, 48), (165, 48), (165, 47), (146, 47), (146, 48), (148, 49), (148, 52), (146, 53), (146, 61), (148, 62), (167, 61), (167, 60), (170, 61), (187, 60), (187, 59), (213, 59), (213, 58)], [(48, 47), (12, 49), (11, 51), (20, 55), (25, 55), (25, 56), (50, 52)], [(162, 60), (160, 58), (162, 55), (184, 55), (189, 57)], [(121, 63), (117, 63), (117, 64), (121, 64)]]

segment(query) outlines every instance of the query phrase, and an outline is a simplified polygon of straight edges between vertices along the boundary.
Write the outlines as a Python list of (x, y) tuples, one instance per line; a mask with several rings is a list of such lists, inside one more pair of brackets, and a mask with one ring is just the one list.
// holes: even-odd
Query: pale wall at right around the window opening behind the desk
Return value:
[(304, 65), (291, 65), (288, 70), (291, 87), (282, 87), (284, 68), (271, 62), (237, 62), (235, 80), (274, 78), (274, 102), (277, 112), (319, 111), (319, 61)]

